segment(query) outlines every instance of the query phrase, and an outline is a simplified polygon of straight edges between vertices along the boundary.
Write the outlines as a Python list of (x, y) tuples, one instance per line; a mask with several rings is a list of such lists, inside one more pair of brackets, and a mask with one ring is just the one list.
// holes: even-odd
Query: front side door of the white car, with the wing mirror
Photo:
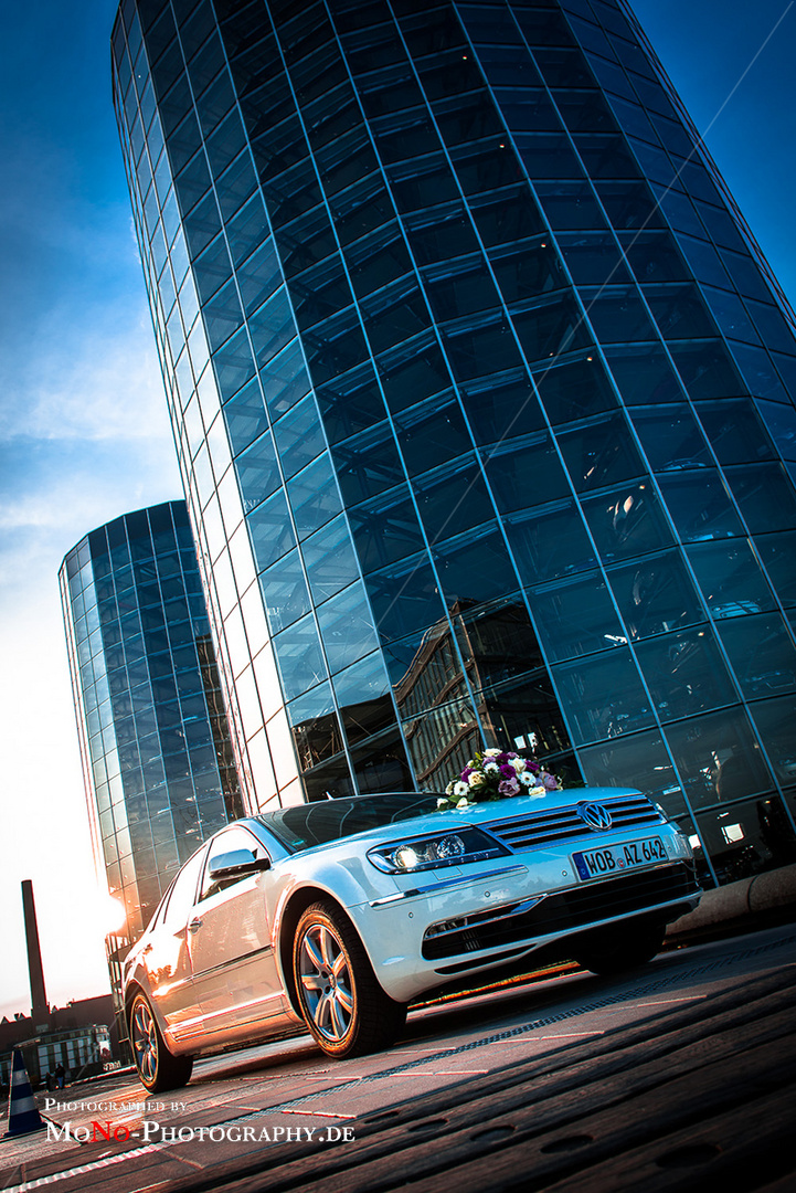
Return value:
[(262, 842), (243, 826), (219, 833), (211, 842), (188, 921), (194, 993), (205, 1032), (229, 1039), (250, 1034), (254, 1022), (280, 1014), (285, 1006), (266, 915), (268, 872), (211, 877), (213, 859), (238, 849), (267, 859)]

